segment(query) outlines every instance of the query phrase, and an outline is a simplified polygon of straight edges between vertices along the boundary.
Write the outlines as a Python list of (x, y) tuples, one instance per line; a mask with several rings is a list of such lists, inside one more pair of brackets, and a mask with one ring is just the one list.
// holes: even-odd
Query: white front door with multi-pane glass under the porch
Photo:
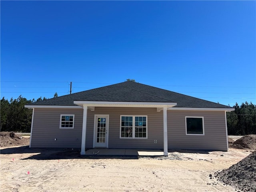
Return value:
[(94, 147), (108, 148), (108, 115), (95, 115)]

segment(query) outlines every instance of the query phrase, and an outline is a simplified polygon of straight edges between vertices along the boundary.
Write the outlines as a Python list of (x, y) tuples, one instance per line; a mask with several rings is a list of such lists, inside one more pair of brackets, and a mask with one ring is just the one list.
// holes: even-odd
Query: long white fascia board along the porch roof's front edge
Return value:
[(74, 101), (74, 104), (80, 106), (94, 107), (163, 107), (168, 108), (176, 106), (176, 102), (111, 102), (111, 101)]

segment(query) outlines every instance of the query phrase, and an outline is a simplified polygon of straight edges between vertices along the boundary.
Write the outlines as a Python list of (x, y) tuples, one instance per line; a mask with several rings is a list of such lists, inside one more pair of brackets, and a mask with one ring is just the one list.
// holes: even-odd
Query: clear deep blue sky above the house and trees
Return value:
[(256, 104), (256, 1), (1, 1), (1, 98), (127, 78)]

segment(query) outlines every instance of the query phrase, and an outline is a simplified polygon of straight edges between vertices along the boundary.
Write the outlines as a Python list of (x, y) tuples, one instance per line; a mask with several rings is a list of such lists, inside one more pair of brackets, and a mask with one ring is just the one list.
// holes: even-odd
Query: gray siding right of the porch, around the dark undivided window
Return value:
[[(227, 151), (224, 111), (168, 111), (168, 149)], [(185, 116), (204, 117), (204, 136), (186, 135)]]

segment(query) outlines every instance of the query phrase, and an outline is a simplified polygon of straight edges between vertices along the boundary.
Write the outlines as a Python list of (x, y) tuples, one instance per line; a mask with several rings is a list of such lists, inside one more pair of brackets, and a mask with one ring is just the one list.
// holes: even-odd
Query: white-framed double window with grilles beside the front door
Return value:
[(147, 138), (147, 116), (120, 116), (120, 138)]

